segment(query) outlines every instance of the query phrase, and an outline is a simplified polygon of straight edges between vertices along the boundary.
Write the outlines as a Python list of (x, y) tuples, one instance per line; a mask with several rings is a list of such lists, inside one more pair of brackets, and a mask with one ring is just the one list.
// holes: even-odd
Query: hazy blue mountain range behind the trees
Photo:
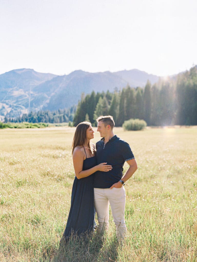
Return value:
[(159, 77), (138, 69), (89, 73), (76, 70), (68, 75), (15, 69), (0, 75), (0, 121), (38, 110), (58, 110), (76, 105), (81, 94), (154, 84)]

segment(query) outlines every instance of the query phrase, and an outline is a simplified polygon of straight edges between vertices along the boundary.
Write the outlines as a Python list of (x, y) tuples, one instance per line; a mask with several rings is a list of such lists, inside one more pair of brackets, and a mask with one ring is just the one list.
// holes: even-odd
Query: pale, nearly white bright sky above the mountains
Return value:
[(0, 0), (0, 74), (176, 74), (197, 64), (196, 13), (194, 0)]

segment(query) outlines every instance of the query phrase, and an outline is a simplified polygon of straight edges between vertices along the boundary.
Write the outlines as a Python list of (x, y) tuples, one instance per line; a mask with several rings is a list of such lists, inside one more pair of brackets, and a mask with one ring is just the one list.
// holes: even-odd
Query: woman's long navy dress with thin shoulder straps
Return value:
[[(85, 150), (85, 149), (84, 149)], [(97, 165), (96, 156), (89, 157), (83, 162), (83, 169), (87, 170)], [(63, 234), (68, 241), (71, 232), (79, 236), (81, 233), (91, 232), (94, 229), (94, 174), (77, 179), (72, 186), (71, 207)]]

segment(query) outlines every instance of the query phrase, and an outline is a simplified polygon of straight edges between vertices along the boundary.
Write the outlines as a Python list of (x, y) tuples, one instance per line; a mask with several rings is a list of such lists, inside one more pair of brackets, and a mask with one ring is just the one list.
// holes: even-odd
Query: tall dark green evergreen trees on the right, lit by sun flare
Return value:
[(112, 115), (116, 126), (139, 118), (147, 125), (197, 125), (197, 67), (176, 78), (160, 79), (145, 88), (126, 88), (81, 96), (73, 125), (87, 120), (96, 125), (101, 115)]

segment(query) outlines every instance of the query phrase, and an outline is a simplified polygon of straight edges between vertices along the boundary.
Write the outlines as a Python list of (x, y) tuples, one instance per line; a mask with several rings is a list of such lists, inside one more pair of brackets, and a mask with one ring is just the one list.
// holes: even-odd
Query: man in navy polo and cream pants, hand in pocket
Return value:
[[(108, 172), (97, 171), (94, 180), (94, 204), (98, 217), (98, 230), (109, 227), (109, 204), (116, 225), (116, 236), (121, 242), (127, 233), (125, 224), (125, 188), (123, 185), (137, 170), (137, 163), (128, 143), (113, 133), (115, 125), (112, 116), (100, 116), (96, 119), (97, 131), (102, 139), (96, 143), (97, 163), (107, 162), (112, 166)], [(129, 168), (122, 176), (123, 165), (127, 161)]]

